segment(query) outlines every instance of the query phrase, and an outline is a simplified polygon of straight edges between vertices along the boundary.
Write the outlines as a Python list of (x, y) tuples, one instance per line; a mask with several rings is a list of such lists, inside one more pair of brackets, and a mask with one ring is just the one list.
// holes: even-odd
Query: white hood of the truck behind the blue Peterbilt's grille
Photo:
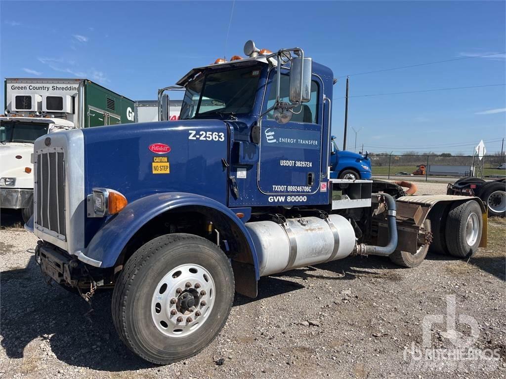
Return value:
[[(15, 188), (33, 187), (33, 174), (25, 172), (25, 167), (33, 168), (31, 154), (33, 144), (8, 142), (0, 144), (0, 177), (16, 178)], [(18, 159), (16, 156), (20, 156)]]

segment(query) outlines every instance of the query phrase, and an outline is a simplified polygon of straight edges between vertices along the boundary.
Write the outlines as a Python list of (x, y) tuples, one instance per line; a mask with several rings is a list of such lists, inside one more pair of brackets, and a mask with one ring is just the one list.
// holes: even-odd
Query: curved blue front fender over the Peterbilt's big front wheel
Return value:
[(154, 194), (127, 205), (95, 234), (85, 252), (78, 254), (78, 258), (101, 268), (112, 267), (126, 243), (144, 224), (163, 212), (185, 206), (211, 208), (233, 222), (249, 245), (257, 280), (260, 278), (255, 245), (248, 230), (236, 214), (216, 200), (183, 192)]

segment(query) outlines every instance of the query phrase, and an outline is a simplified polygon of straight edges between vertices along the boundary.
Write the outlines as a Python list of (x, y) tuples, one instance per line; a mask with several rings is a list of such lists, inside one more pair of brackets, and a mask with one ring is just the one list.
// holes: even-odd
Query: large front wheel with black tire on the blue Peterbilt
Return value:
[(134, 353), (169, 364), (215, 339), (233, 299), (234, 274), (218, 246), (196, 235), (166, 234), (126, 262), (114, 287), (112, 318)]

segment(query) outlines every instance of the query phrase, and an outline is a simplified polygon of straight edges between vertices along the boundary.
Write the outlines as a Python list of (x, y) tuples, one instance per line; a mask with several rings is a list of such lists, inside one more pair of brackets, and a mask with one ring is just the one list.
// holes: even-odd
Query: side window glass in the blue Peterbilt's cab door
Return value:
[[(276, 88), (277, 82), (276, 77), (272, 80), (271, 89), (269, 90), (269, 98), (267, 101), (267, 109), (272, 107), (276, 102)], [(288, 91), (290, 88), (290, 78), (288, 75), (281, 75), (281, 88), (279, 91), (279, 97), (281, 101), (289, 103)], [(273, 112), (267, 113), (268, 119), (274, 119)], [(304, 103), (299, 107), (293, 108), (292, 122), (305, 122), (310, 124), (318, 123), (318, 83), (316, 81), (311, 82), (311, 100), (308, 103)]]

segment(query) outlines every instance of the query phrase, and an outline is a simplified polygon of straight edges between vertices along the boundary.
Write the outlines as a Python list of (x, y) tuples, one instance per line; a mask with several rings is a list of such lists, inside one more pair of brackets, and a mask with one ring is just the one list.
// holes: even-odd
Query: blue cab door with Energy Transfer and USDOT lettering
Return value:
[[(276, 101), (276, 73), (271, 70), (267, 100), (263, 109)], [(313, 75), (311, 101), (293, 109), (286, 124), (274, 120), (273, 112), (263, 117), (260, 138), (258, 187), (269, 195), (315, 194), (320, 188), (322, 166), (322, 105), (323, 84)], [(288, 101), (289, 76), (281, 75), (280, 97)], [(290, 197), (293, 199), (293, 197)]]

